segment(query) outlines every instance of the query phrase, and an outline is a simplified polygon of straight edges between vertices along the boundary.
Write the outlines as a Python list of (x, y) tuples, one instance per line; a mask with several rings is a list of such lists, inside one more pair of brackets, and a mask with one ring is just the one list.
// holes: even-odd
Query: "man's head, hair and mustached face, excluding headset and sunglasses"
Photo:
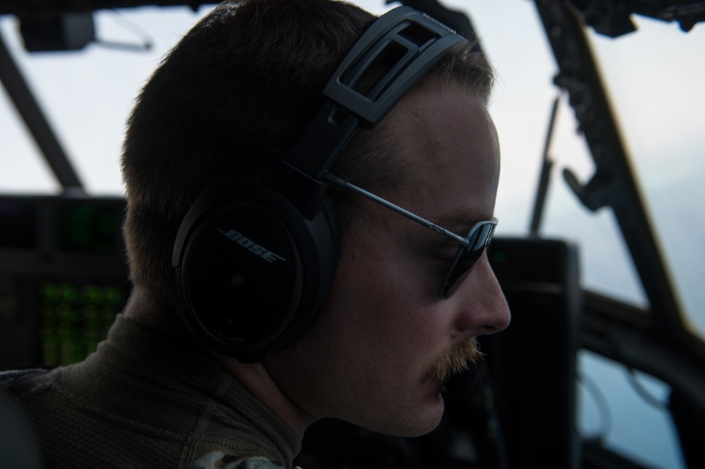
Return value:
[[(337, 1), (223, 4), (154, 73), (130, 118), (123, 171), (133, 282), (155, 314), (181, 307), (171, 250), (193, 201), (264, 150), (287, 151), (372, 20)], [(481, 55), (456, 49), (374, 130), (358, 131), (331, 173), (465, 235), (494, 211), (491, 81)], [(264, 367), (312, 418), (396, 434), (431, 430), (443, 408), (438, 381), (476, 355), (463, 344), (508, 323), (501, 291), (482, 257), (453, 299), (441, 300), (434, 279), (457, 244), (356, 194), (330, 195), (343, 242), (328, 304)]]

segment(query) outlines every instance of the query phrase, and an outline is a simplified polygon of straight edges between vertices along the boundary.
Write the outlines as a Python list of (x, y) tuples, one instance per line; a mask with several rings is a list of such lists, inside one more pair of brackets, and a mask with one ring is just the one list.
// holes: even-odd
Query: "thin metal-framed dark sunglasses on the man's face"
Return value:
[(429, 220), (426, 220), (425, 218), (419, 217), (419, 215), (416, 215), (415, 213), (411, 213), (400, 206), (396, 206), (390, 201), (386, 201), (371, 192), (367, 192), (366, 190), (361, 189), (360, 187), (357, 187), (356, 185), (353, 185), (340, 177), (333, 176), (331, 173), (326, 173), (324, 175), (324, 179), (337, 187), (341, 187), (342, 189), (350, 189), (356, 194), (360, 194), (376, 204), (388, 208), (391, 211), (395, 211), (399, 215), (403, 215), (409, 220), (419, 223), (419, 225), (424, 225), (430, 230), (439, 233), (439, 235), (454, 239), (460, 244), (458, 247), (458, 252), (455, 253), (455, 257), (450, 263), (448, 273), (445, 277), (443, 277), (443, 281), (441, 282), (441, 287), (439, 288), (439, 296), (441, 296), (441, 299), (450, 299), (450, 297), (458, 291), (458, 287), (462, 283), (458, 280), (470, 272), (475, 263), (477, 263), (479, 258), (482, 257), (482, 253), (484, 253), (486, 247), (489, 246), (492, 241), (494, 227), (497, 225), (496, 218), (476, 223), (472, 226), (472, 228), (470, 228), (467, 235), (462, 237), (460, 235), (455, 235), (455, 233), (450, 232), (435, 223), (429, 222)]

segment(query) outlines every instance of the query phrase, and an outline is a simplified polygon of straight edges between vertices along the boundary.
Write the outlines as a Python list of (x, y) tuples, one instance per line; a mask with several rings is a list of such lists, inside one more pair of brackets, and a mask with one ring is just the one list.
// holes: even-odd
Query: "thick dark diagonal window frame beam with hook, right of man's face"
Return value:
[(652, 331), (658, 331), (653, 338), (668, 336), (680, 342), (689, 334), (683, 330), (670, 278), (580, 18), (563, 1), (537, 0), (536, 5), (558, 63), (556, 85), (568, 92), (596, 165), (587, 184), (570, 173), (565, 173), (566, 180), (587, 208), (613, 209), (651, 303)]

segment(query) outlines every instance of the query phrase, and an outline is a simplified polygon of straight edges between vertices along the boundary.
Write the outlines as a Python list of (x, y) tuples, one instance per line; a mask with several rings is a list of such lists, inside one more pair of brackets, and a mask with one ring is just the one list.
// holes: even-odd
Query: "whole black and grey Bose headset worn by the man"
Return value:
[(324, 104), (266, 170), (238, 168), (180, 225), (172, 267), (190, 330), (243, 363), (293, 344), (328, 298), (338, 256), (326, 170), (466, 39), (407, 6), (377, 18), (324, 87)]

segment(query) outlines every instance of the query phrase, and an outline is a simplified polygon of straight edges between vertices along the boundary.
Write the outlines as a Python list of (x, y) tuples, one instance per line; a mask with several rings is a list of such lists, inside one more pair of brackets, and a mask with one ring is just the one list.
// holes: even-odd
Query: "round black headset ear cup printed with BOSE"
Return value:
[(192, 331), (207, 346), (259, 361), (300, 336), (335, 273), (328, 210), (303, 218), (268, 187), (225, 177), (186, 215), (173, 267)]

